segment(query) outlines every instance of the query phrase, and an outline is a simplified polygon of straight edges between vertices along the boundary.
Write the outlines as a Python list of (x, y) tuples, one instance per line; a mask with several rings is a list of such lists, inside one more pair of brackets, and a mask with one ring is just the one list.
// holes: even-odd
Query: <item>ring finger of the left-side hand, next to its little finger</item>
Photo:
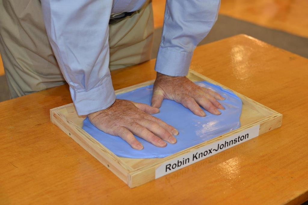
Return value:
[(164, 140), (160, 139), (158, 136), (150, 132), (147, 128), (141, 126), (136, 122), (128, 124), (126, 128), (134, 135), (139, 136), (144, 140), (147, 140), (149, 143), (152, 143), (157, 147), (167, 146), (167, 143)]

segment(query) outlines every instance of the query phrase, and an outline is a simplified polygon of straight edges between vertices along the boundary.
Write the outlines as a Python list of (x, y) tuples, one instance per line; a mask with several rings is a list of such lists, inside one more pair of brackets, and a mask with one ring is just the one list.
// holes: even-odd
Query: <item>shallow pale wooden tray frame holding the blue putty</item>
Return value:
[[(206, 80), (208, 82), (226, 88), (225, 86), (192, 70), (189, 71), (188, 78), (191, 79), (192, 81)], [(152, 83), (153, 81), (148, 81), (138, 85), (133, 85), (128, 88), (117, 90), (115, 91), (115, 93), (116, 94), (125, 93), (142, 86), (150, 85)], [(131, 159), (131, 158), (123, 158), (116, 156), (82, 129), (83, 120), (86, 116), (78, 116), (75, 107), (72, 103), (51, 109), (50, 110), (51, 122), (53, 122), (60, 129), (62, 129), (67, 135), (69, 135), (72, 139), (74, 139), (92, 156), (94, 156), (103, 165), (109, 168), (115, 175), (117, 175), (126, 184), (128, 184), (129, 187), (132, 188), (144, 184), (146, 182), (149, 182), (157, 178), (158, 176), (164, 175), (161, 173), (157, 173), (156, 169), (161, 170), (162, 166), (168, 163), (170, 164), (174, 160), (182, 159), (183, 157), (189, 154), (196, 153), (197, 151), (202, 150), (202, 148), (208, 148), (209, 146), (212, 146), (215, 143), (217, 144), (220, 142), (224, 142), (226, 139), (229, 139), (232, 136), (237, 136), (239, 133), (244, 133), (246, 131), (250, 132), (249, 130), (255, 129), (256, 127), (259, 130), (256, 135), (258, 136), (281, 126), (282, 114), (270, 108), (267, 108), (264, 105), (259, 104), (256, 101), (253, 101), (248, 97), (241, 95), (240, 93), (237, 93), (235, 91), (233, 92), (236, 93), (237, 96), (240, 97), (243, 102), (242, 114), (240, 117), (241, 121), (240, 128), (228, 132), (224, 135), (218, 136), (216, 138), (213, 138), (212, 140), (208, 140), (201, 144), (197, 144), (191, 148), (187, 148), (183, 151), (177, 152), (176, 154), (173, 154), (165, 158)], [(205, 158), (206, 157), (202, 159)], [(187, 165), (192, 163), (193, 162), (191, 161), (191, 163), (188, 163)], [(183, 167), (184, 166), (180, 168)], [(170, 172), (169, 170), (167, 171), (166, 168), (166, 174)]]

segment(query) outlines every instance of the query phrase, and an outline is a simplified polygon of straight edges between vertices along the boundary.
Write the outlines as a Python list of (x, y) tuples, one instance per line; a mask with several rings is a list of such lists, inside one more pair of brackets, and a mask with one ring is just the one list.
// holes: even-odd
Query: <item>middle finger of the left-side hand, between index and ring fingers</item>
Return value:
[(176, 143), (176, 138), (174, 136), (172, 136), (172, 134), (170, 132), (168, 132), (164, 128), (160, 127), (160, 125), (157, 124), (156, 122), (144, 119), (144, 120), (140, 120), (138, 123), (141, 126), (144, 126), (145, 128), (147, 128), (149, 131), (153, 132), (156, 136), (159, 136), (161, 139), (163, 139), (163, 140), (165, 140), (165, 141), (167, 141), (171, 144)]

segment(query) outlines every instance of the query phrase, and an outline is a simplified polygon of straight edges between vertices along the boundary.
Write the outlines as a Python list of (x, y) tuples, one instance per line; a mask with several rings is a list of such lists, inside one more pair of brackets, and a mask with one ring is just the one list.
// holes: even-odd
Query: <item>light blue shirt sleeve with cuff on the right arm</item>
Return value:
[(185, 76), (198, 43), (217, 20), (220, 0), (167, 0), (155, 70)]

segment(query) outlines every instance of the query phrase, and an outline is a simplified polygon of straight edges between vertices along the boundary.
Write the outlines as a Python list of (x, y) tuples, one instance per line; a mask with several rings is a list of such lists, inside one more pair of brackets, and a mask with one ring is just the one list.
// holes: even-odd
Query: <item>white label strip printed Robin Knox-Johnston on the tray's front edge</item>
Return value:
[(155, 170), (155, 179), (259, 136), (260, 124), (169, 160)]

